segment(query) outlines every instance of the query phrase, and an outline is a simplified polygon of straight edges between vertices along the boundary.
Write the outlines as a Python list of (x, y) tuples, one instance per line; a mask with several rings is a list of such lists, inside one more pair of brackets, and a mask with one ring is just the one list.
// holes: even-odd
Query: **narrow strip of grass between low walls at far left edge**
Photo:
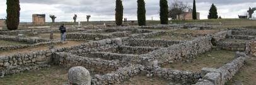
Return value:
[(25, 42), (16, 42), (16, 41), (8, 41), (8, 40), (0, 40), (0, 46), (8, 46), (8, 45), (27, 45)]

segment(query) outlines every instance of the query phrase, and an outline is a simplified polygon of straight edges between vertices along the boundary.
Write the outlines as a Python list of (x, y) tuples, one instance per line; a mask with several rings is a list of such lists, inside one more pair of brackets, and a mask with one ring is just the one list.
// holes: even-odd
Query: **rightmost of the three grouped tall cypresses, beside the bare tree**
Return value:
[(160, 0), (160, 21), (161, 24), (168, 24), (168, 2)]

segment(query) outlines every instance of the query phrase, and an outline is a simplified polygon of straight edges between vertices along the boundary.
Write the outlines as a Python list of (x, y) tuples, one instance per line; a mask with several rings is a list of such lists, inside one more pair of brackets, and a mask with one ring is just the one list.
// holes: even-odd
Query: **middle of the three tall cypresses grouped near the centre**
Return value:
[(137, 20), (139, 26), (146, 25), (146, 9), (144, 0), (137, 0)]

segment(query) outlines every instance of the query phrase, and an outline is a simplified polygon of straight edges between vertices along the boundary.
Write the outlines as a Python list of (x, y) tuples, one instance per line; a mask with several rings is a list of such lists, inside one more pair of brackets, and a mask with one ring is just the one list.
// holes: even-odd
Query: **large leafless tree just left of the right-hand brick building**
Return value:
[(190, 11), (192, 7), (187, 4), (183, 3), (182, 1), (175, 0), (169, 5), (169, 18), (172, 19), (180, 19), (180, 14)]

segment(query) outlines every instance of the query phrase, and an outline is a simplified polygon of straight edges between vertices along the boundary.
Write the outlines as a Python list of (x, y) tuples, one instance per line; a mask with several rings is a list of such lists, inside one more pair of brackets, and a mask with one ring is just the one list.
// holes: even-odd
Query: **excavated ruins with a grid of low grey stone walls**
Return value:
[[(177, 31), (209, 31), (212, 29), (212, 25), (198, 24), (120, 26), (100, 29), (68, 27), (67, 40), (83, 42), (55, 48), (48, 47), (52, 44), (69, 42), (61, 42), (58, 37), (50, 40), (38, 36), (42, 33), (49, 35), (51, 32), (57, 33), (59, 32), (57, 28), (52, 30), (49, 28), (1, 30), (0, 40), (22, 42), (22, 44), (1, 45), (0, 52), (25, 50), (39, 46), (47, 48), (31, 52), (0, 53), (0, 76), (4, 79), (14, 74), (57, 66), (74, 67), (69, 70), (69, 79), (73, 81), (59, 82), (61, 84), (71, 82), (75, 84), (76, 81), (78, 84), (90, 81), (89, 84), (92, 85), (132, 84), (132, 81), (128, 80), (140, 76), (160, 77), (170, 85), (224, 85), (245, 65), (245, 61), (249, 58), (248, 55), (255, 50), (252, 44), (255, 43), (256, 30), (228, 28), (206, 34)], [(194, 71), (166, 67), (178, 63), (195, 62), (200, 55), (218, 50), (227, 50), (233, 55), (230, 60), (218, 67), (207, 65)], [(216, 57), (211, 57), (212, 55), (207, 56), (213, 59), (212, 61), (216, 59)], [(222, 55), (221, 57), (225, 58)], [(83, 72), (83, 67), (90, 73)], [(67, 72), (65, 71), (66, 74)], [(81, 76), (78, 76), (78, 73), (80, 72), (87, 77), (79, 79), (78, 77)]]

